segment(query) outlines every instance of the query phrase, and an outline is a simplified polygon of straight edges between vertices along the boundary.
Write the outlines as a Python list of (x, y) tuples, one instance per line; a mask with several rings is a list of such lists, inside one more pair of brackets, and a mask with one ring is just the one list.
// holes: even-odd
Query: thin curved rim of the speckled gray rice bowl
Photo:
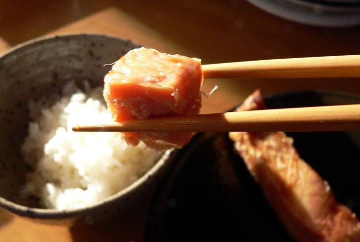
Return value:
[[(103, 34), (93, 34), (93, 33), (81, 33), (81, 34), (64, 34), (64, 35), (51, 35), (51, 36), (44, 36), (44, 37), (38, 37), (35, 39), (28, 40), (26, 42), (17, 44), (10, 49), (6, 50), (2, 54), (0, 54), (0, 61), (3, 58), (6, 58), (6, 56), (11, 55), (15, 51), (19, 51), (22, 48), (31, 47), (34, 44), (47, 42), (47, 41), (54, 41), (55, 39), (62, 39), (62, 38), (77, 38), (77, 37), (101, 37), (101, 38), (111, 38), (115, 40), (121, 40), (121, 41), (128, 41), (134, 44), (135, 46), (141, 46), (137, 42), (134, 42), (130, 39), (118, 37), (115, 35), (103, 35)], [(162, 152), (159, 154), (159, 157), (155, 164), (146, 172), (144, 173), (139, 179), (137, 179), (135, 182), (131, 183), (129, 186), (125, 187), (124, 189), (120, 190), (119, 192), (102, 199), (101, 201), (86, 206), (86, 207), (80, 207), (80, 208), (71, 208), (71, 209), (55, 209), (55, 208), (36, 208), (36, 207), (27, 207), (24, 205), (19, 205), (14, 202), (11, 202), (5, 198), (0, 197), (0, 207), (14, 213), (18, 214), (20, 216), (26, 216), (30, 218), (40, 218), (40, 219), (54, 219), (54, 218), (70, 218), (74, 216), (80, 216), (80, 215), (86, 215), (88, 212), (94, 211), (98, 209), (99, 207), (102, 207), (104, 205), (110, 204), (115, 202), (116, 199), (121, 197), (126, 197), (126, 195), (131, 194), (134, 192), (137, 188), (141, 187), (142, 184), (145, 183), (147, 179), (149, 179), (151, 176), (155, 176), (156, 172), (160, 170), (160, 168), (164, 167), (165, 163), (167, 161), (170, 162), (171, 158), (173, 158), (173, 154), (175, 149), (169, 149), (165, 152)]]

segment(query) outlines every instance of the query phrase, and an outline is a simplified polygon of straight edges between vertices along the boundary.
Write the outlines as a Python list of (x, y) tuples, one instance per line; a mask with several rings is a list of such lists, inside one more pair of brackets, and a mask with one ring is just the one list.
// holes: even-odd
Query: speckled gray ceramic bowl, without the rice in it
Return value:
[(32, 168), (22, 159), (20, 147), (30, 121), (28, 101), (58, 93), (68, 80), (79, 85), (88, 79), (103, 85), (116, 61), (139, 45), (105, 35), (62, 35), (32, 40), (0, 57), (0, 206), (37, 222), (72, 225), (85, 217), (105, 219), (124, 211), (149, 189), (173, 160), (167, 152), (138, 181), (119, 193), (82, 209), (40, 208), (36, 199), (22, 198), (24, 177)]

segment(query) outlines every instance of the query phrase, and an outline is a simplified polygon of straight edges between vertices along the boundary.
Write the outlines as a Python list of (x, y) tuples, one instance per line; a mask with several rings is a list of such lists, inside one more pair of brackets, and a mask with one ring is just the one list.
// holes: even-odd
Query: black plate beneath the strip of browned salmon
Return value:
[[(360, 103), (359, 96), (301, 92), (266, 98), (269, 108)], [(360, 214), (360, 133), (288, 133), (339, 202)], [(292, 241), (226, 133), (197, 134), (159, 183), (146, 242)]]

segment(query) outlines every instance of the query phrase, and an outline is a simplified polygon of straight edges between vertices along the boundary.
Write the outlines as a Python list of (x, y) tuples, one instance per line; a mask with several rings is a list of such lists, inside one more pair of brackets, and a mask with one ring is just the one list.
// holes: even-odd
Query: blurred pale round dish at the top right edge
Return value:
[(360, 24), (358, 2), (343, 2), (342, 5), (338, 3), (335, 5), (336, 3), (333, 2), (333, 5), (330, 5), (331, 2), (328, 1), (325, 5), (319, 4), (320, 1), (310, 0), (248, 1), (266, 12), (302, 24), (319, 27), (350, 27)]

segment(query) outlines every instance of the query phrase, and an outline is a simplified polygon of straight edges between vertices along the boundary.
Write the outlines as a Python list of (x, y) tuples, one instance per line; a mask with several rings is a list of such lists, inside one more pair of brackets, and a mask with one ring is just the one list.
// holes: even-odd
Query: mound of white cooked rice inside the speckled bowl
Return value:
[(75, 124), (112, 122), (103, 89), (84, 86), (82, 92), (69, 82), (61, 98), (29, 103), (34, 122), (22, 154), (35, 171), (28, 174), (24, 190), (48, 208), (94, 204), (136, 181), (160, 156), (144, 144), (129, 147), (113, 133), (72, 132)]

